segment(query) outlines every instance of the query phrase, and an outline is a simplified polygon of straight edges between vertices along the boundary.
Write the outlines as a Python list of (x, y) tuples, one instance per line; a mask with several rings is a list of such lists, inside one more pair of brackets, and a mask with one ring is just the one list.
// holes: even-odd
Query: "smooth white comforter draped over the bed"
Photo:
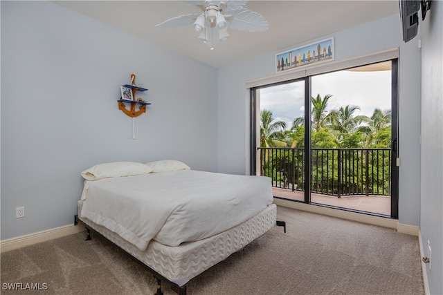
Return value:
[(195, 170), (106, 178), (84, 183), (80, 218), (146, 249), (219, 234), (273, 201), (271, 179)]

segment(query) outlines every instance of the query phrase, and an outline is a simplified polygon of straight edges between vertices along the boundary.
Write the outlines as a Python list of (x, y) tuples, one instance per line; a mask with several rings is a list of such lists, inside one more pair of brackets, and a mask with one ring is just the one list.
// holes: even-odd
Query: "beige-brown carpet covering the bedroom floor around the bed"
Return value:
[[(424, 294), (417, 237), (282, 207), (278, 220), (286, 234), (271, 229), (191, 280), (188, 294)], [(97, 234), (84, 237), (1, 254), (1, 294), (155, 293), (143, 266)], [(8, 283), (47, 289), (11, 291)], [(163, 292), (175, 294), (166, 284)]]

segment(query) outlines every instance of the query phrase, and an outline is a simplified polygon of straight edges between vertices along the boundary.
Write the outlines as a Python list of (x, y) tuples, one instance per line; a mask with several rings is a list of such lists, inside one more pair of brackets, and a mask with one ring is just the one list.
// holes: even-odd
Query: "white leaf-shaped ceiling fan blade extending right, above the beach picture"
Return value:
[(233, 20), (230, 22), (230, 28), (246, 32), (264, 32), (269, 29), (269, 23), (260, 13), (242, 8), (235, 10), (231, 14)]

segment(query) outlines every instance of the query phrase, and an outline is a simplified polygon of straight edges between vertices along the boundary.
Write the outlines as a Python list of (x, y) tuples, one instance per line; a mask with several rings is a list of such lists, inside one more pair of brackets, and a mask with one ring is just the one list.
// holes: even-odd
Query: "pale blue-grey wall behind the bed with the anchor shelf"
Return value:
[[(1, 62), (1, 240), (73, 224), (100, 162), (217, 170), (216, 68), (48, 1), (1, 1)], [(136, 140), (117, 104), (132, 73), (152, 102)]]

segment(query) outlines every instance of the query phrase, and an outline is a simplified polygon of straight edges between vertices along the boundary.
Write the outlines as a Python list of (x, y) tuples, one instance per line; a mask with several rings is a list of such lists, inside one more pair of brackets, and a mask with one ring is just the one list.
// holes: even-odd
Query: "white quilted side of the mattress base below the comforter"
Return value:
[[(79, 200), (79, 216), (82, 204), (82, 200)], [(269, 204), (252, 218), (215, 236), (195, 242), (185, 242), (178, 247), (163, 245), (156, 240), (151, 240), (143, 251), (109, 229), (96, 225), (91, 220), (81, 221), (172, 283), (183, 286), (190, 279), (269, 231), (275, 226), (276, 216), (276, 205)]]

